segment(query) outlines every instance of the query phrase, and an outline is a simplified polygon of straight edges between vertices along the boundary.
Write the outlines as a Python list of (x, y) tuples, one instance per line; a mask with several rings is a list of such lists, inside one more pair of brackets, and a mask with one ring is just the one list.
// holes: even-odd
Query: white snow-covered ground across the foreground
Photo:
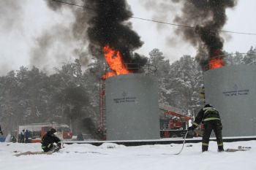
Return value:
[(27, 151), (41, 151), (40, 144), (0, 143), (1, 170), (255, 170), (256, 141), (224, 143), (225, 149), (252, 147), (248, 151), (217, 152), (216, 142), (210, 142), (208, 152), (201, 152), (201, 143), (154, 144), (125, 147), (105, 143), (99, 147), (91, 144), (65, 144), (64, 149), (52, 155), (21, 155)]

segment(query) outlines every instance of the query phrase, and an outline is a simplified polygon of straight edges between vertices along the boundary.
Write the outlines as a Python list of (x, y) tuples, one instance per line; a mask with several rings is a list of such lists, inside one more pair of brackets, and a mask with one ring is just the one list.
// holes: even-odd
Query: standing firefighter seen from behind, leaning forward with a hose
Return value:
[(219, 112), (217, 109), (212, 107), (210, 104), (206, 104), (203, 109), (200, 109), (195, 121), (192, 126), (188, 128), (189, 131), (194, 131), (200, 123), (203, 122), (203, 140), (202, 140), (202, 151), (205, 152), (208, 150), (209, 139), (211, 136), (211, 131), (214, 130), (214, 134), (217, 138), (218, 151), (222, 152), (223, 141), (222, 141), (222, 122), (219, 117)]

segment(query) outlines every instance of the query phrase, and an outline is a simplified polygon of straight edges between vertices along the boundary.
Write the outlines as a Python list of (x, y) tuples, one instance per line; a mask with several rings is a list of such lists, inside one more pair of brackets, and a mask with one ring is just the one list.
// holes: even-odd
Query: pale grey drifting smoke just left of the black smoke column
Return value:
[[(37, 36), (34, 48), (31, 49), (32, 65), (40, 66), (40, 69), (47, 69), (50, 65), (58, 66), (67, 63), (70, 59), (79, 58), (83, 66), (90, 61), (87, 50), (87, 34), (89, 15), (81, 7), (74, 7), (58, 1), (45, 0), (48, 7), (59, 15), (64, 15), (64, 22), (57, 23)], [(69, 1), (70, 3), (84, 1)], [(70, 13), (70, 14), (69, 14)]]

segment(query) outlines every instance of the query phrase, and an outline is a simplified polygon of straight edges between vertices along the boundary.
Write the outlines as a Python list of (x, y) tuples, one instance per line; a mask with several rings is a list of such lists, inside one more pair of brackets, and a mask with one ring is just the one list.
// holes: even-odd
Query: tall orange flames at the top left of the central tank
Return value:
[(131, 73), (127, 69), (127, 66), (125, 66), (124, 61), (122, 60), (120, 51), (114, 50), (109, 45), (105, 45), (105, 47), (103, 47), (103, 52), (104, 52), (105, 60), (107, 61), (108, 66), (112, 70), (112, 72), (106, 72), (102, 76), (103, 80), (116, 75)]

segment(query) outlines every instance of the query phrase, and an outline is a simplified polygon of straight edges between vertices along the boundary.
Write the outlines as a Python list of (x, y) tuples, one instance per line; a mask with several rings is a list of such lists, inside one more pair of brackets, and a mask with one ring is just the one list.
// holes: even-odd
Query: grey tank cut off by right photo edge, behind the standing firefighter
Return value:
[(256, 135), (256, 66), (238, 65), (204, 73), (206, 103), (222, 118), (223, 136)]

